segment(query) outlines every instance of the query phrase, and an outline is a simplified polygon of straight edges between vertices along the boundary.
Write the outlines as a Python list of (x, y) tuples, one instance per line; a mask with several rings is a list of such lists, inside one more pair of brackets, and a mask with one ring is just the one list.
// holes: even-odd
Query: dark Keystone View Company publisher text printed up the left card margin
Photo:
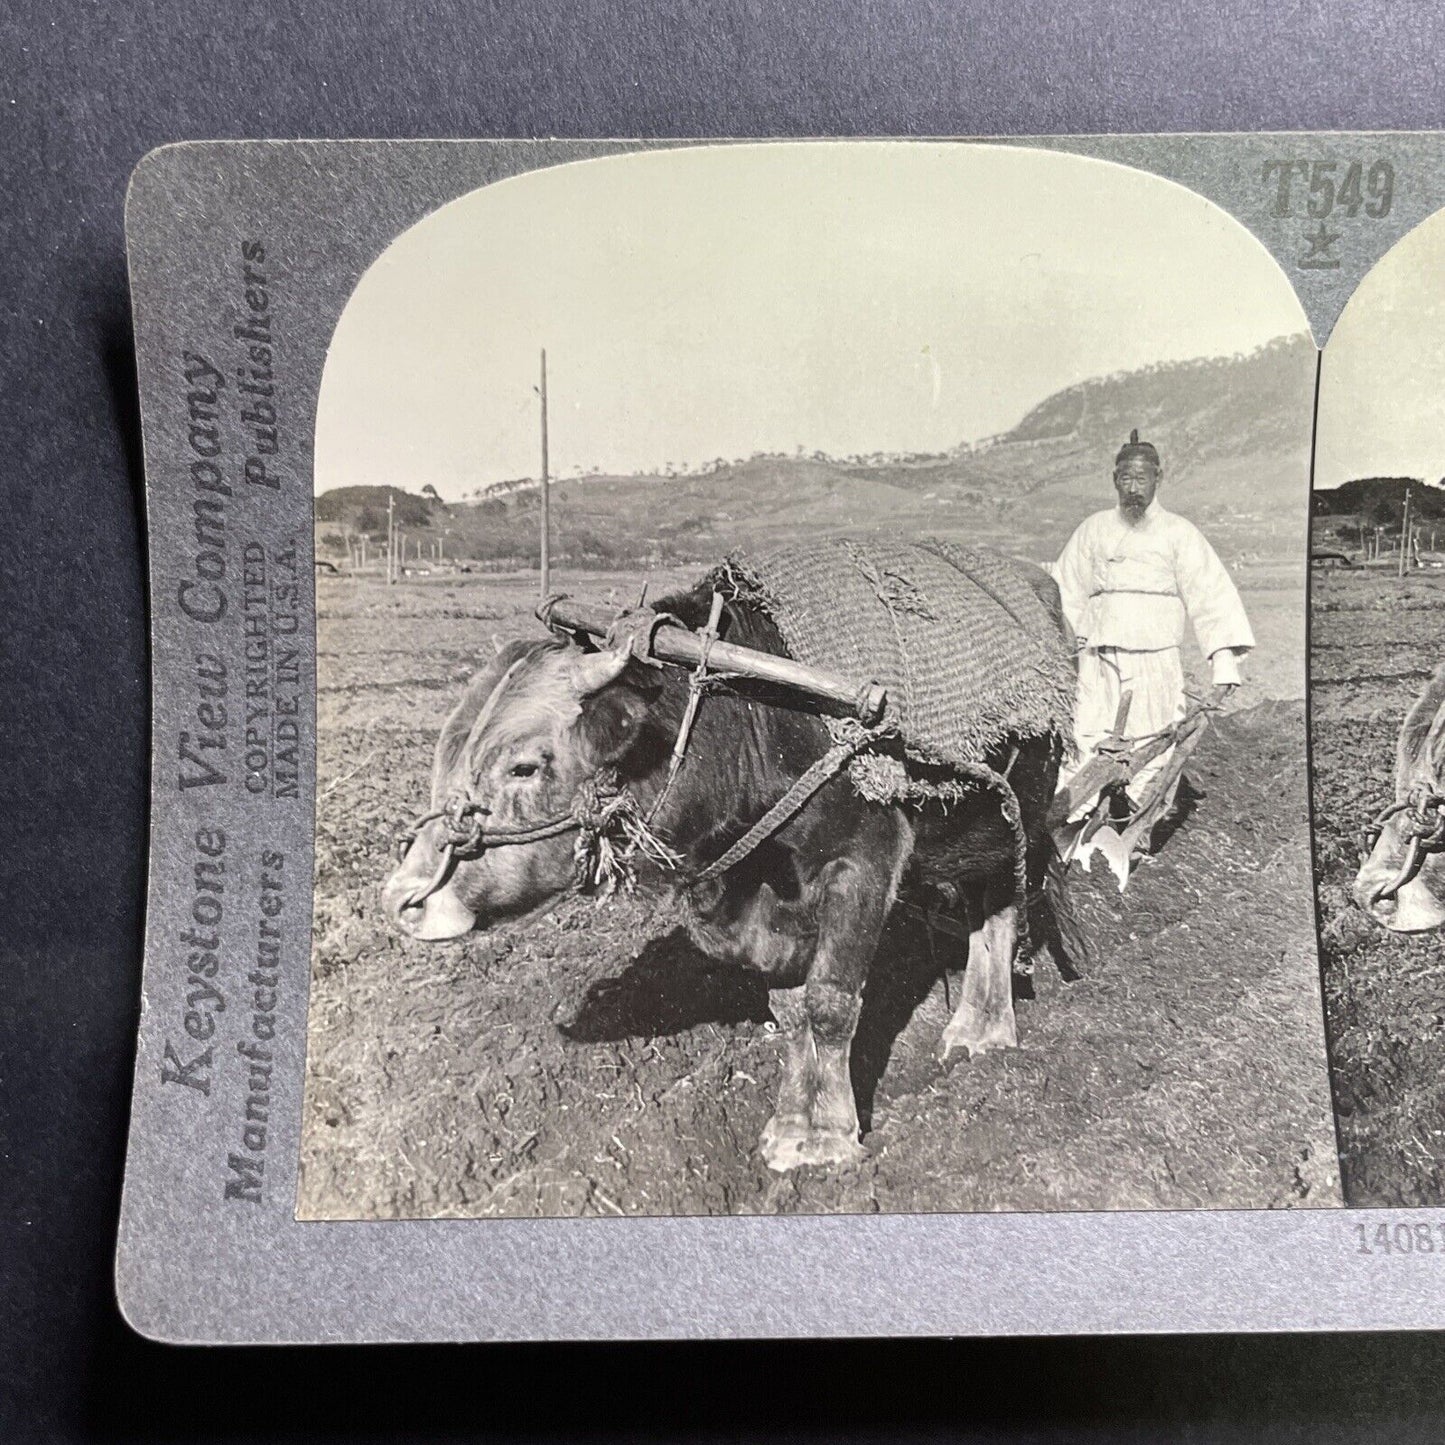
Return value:
[(173, 941), (182, 977), (160, 1078), (176, 1085), (178, 1104), (224, 1098), (218, 1194), (249, 1204), (262, 1202), (266, 1182), (290, 879), (282, 848), (238, 845), (221, 814), (234, 816), (237, 796), (263, 809), (302, 796), (305, 551), (273, 523), (276, 500), (296, 486), (277, 380), (273, 251), (263, 238), (240, 241), (234, 299), (215, 332), (176, 358), (185, 471), (173, 483), (191, 506), (178, 513), (186, 529), (172, 553), (179, 575), (158, 587), (158, 600), (173, 601), (178, 665), (191, 679), (175, 724), (173, 783), (195, 819), (191, 847), (166, 855), (185, 873), (171, 884), (189, 907)]

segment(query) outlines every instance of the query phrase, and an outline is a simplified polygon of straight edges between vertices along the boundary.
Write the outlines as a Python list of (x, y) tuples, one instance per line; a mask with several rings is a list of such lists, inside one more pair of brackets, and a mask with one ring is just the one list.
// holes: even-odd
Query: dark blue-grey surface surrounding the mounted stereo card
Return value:
[(110, 1283), (147, 785), (121, 204), (146, 150), (1438, 127), (1436, 6), (20, 0), (0, 40), (0, 1439), (1445, 1438), (1435, 1335), (169, 1350)]

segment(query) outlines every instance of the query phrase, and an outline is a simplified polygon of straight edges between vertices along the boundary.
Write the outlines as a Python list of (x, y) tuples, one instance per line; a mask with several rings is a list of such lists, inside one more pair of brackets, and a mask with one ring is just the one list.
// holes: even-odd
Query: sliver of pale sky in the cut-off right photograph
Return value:
[(1445, 475), (1445, 212), (1364, 277), (1325, 344), (1315, 486)]

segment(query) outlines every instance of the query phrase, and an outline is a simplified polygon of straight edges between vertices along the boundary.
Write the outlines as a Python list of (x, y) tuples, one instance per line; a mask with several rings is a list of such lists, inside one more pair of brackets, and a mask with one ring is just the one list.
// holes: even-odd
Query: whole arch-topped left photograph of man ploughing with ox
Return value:
[(1241, 225), (1078, 156), (621, 156), (397, 237), (316, 406), (301, 1214), (1338, 1202), (1314, 381)]

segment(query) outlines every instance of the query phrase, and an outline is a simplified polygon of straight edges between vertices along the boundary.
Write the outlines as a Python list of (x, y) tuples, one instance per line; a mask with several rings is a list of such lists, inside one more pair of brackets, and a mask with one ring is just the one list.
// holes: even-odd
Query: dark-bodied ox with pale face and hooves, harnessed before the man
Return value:
[[(1040, 571), (1036, 585), (1056, 614), (1053, 582)], [(659, 603), (659, 610), (699, 627), (708, 601), (699, 588)], [(773, 624), (749, 607), (730, 604), (721, 630), (730, 642), (785, 652)], [(686, 673), (647, 666), (626, 650), (591, 652), (559, 640), (507, 644), (442, 728), (432, 808), (449, 808), (451, 818), (425, 822), (387, 880), (390, 919), (413, 938), (460, 938), (574, 889), (578, 832), (549, 834), (549, 822), (577, 814), (581, 799), (595, 805), (600, 776), (649, 812), (663, 789), (686, 698)], [(815, 712), (762, 683), (734, 681), (709, 694), (686, 763), (652, 819), (681, 855), (676, 877), (686, 880), (720, 858), (829, 743)], [(1016, 751), (1006, 741), (990, 762), (1009, 769), (1020, 806), (1036, 907), (1032, 936), (1053, 945), (1064, 961), (1065, 936), (1069, 954), (1079, 951), (1079, 938), (1045, 827), (1059, 753), (1056, 737), (1033, 737)], [(480, 818), (491, 838), (448, 854), (448, 828), (460, 816)], [(581, 837), (585, 844), (587, 834)], [(864, 980), (905, 876), (945, 893), (961, 890), (968, 905), (968, 970), (944, 1032), (944, 1056), (1017, 1042), (1014, 841), (998, 796), (987, 790), (946, 809), (889, 806), (867, 802), (840, 773), (736, 866), (705, 883), (681, 884), (688, 932), (705, 954), (756, 968), (773, 988), (792, 991), (775, 1004), (792, 1027), (777, 1107), (762, 1139), (769, 1166), (834, 1165), (863, 1153), (848, 1053)], [(643, 870), (642, 881), (668, 877)]]

